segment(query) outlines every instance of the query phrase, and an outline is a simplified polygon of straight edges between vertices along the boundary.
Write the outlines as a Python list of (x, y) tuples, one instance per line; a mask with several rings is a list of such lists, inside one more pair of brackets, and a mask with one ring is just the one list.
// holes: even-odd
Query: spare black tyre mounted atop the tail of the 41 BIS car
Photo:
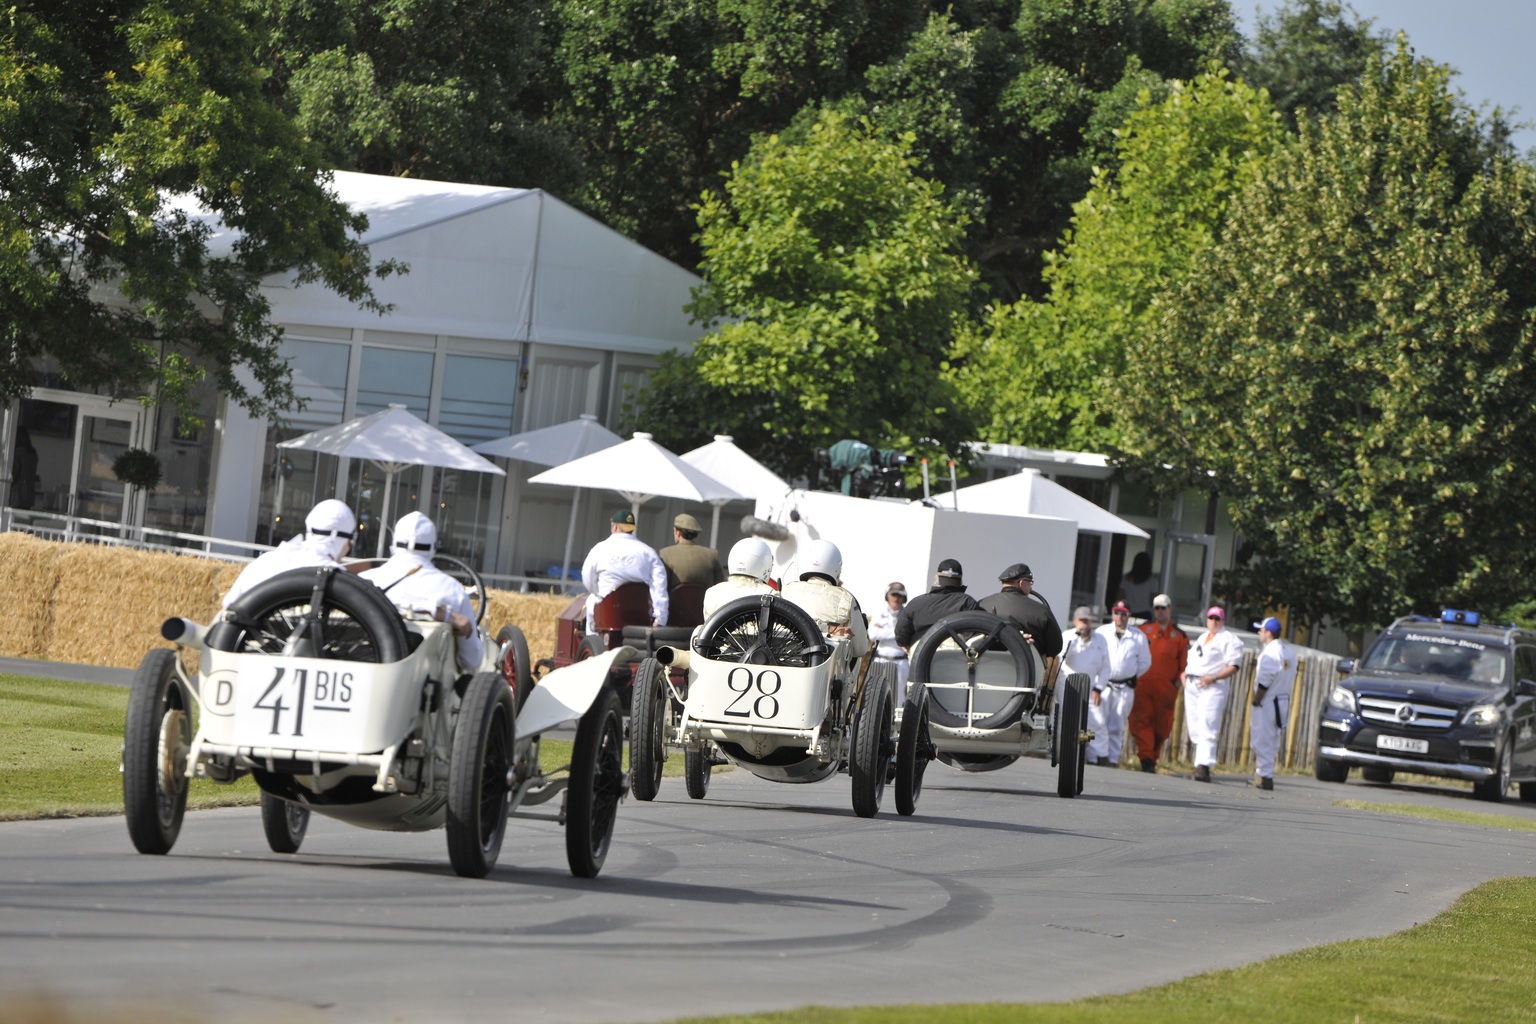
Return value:
[(289, 570), (257, 583), (230, 605), (226, 616), (233, 622), (215, 623), (204, 643), (215, 651), (283, 654), (304, 619), (319, 573), (329, 577), (323, 643), (303, 654), (382, 665), (409, 654), (406, 626), (384, 591), (341, 568)]

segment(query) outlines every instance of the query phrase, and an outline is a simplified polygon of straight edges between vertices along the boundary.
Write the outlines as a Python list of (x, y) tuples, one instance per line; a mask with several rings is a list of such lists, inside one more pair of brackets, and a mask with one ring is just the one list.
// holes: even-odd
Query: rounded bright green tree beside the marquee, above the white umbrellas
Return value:
[(714, 329), (664, 364), (637, 425), (674, 445), (727, 428), (790, 473), (842, 438), (958, 450), (943, 368), (975, 272), (940, 192), (836, 112), (763, 140), (699, 209), (693, 313)]

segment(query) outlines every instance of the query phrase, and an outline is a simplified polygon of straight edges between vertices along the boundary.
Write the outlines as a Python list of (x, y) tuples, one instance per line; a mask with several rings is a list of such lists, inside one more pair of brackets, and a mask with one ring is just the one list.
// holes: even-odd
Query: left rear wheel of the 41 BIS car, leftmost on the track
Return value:
[(187, 809), (192, 694), (177, 677), (177, 652), (157, 648), (134, 672), (123, 725), (123, 812), (140, 854), (169, 854)]

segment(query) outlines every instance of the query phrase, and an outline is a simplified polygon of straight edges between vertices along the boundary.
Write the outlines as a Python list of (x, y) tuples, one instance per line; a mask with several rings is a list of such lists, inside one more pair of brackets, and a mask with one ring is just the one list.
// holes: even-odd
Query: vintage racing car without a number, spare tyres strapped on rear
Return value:
[[(1089, 679), (1066, 676), (1057, 689), (1057, 659), (1046, 666), (1011, 622), (985, 611), (940, 619), (912, 646), (902, 746), (915, 755), (929, 735), (943, 763), (968, 772), (1008, 768), (1020, 757), (1049, 757), (1057, 795), (1083, 792)], [(919, 769), (919, 778), (922, 769)]]

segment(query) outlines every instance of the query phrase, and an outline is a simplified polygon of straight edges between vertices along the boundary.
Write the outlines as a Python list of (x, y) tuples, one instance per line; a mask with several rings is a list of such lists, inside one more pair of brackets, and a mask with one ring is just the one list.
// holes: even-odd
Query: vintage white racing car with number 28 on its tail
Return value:
[[(687, 671), (679, 686), (670, 672)], [(860, 817), (880, 809), (895, 760), (895, 674), (852, 659), (848, 640), (822, 636), (799, 605), (776, 594), (742, 597), (699, 626), (690, 649), (660, 648), (634, 672), (630, 771), (651, 800), (668, 748), (682, 748), (688, 795), (703, 798), (713, 751), (770, 781), (852, 777)], [(895, 771), (899, 809), (911, 814), (911, 774)]]

